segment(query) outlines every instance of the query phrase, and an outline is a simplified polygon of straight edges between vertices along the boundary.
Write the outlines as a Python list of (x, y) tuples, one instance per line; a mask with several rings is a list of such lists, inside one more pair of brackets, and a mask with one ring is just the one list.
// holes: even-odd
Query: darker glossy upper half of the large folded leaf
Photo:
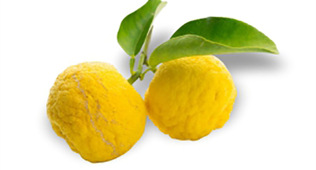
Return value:
[(230, 47), (251, 47), (278, 53), (271, 39), (245, 22), (232, 18), (207, 17), (193, 20), (180, 27), (172, 38), (186, 34), (199, 35)]

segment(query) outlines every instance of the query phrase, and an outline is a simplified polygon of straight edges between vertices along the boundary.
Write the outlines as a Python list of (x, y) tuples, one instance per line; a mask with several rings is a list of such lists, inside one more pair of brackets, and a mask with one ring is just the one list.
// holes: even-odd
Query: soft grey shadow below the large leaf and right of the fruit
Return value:
[(228, 122), (224, 126), (225, 128), (232, 126), (235, 120), (239, 119), (240, 112), (243, 110), (240, 107), (246, 107), (247, 105), (243, 102), (247, 90), (243, 88), (238, 77), (245, 77), (249, 74), (258, 76), (261, 76), (261, 74), (277, 74), (283, 70), (285, 62), (282, 61), (284, 59), (282, 55), (269, 53), (234, 53), (216, 55), (216, 57), (228, 68), (234, 78), (238, 93)]

